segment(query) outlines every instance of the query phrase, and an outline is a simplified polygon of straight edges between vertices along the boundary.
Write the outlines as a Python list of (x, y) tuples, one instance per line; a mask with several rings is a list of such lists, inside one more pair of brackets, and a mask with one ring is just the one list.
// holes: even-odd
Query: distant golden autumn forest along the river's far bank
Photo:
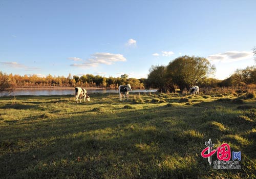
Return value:
[(144, 88), (145, 79), (128, 78), (128, 75), (124, 74), (121, 77), (102, 77), (99, 75), (82, 75), (68, 77), (64, 76), (52, 76), (38, 77), (37, 75), (6, 75), (0, 72), (0, 76), (5, 77), (6, 81), (14, 87), (43, 87), (43, 86), (83, 86), (83, 87), (106, 87), (106, 88), (118, 88), (119, 85), (130, 83), (133, 88)]

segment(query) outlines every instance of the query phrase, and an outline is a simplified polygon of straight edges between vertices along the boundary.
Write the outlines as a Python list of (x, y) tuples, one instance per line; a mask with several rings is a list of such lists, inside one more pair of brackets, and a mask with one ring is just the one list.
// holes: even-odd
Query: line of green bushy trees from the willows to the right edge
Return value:
[(229, 87), (256, 84), (256, 66), (238, 69), (225, 80), (212, 78), (216, 71), (206, 58), (181, 56), (170, 61), (167, 66), (152, 66), (144, 82), (146, 88), (159, 88), (161, 92), (188, 91), (191, 86)]

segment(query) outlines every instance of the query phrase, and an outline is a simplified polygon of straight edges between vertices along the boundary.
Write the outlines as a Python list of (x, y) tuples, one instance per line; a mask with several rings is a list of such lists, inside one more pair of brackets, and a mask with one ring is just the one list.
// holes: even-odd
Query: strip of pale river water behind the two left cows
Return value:
[[(114, 90), (114, 89), (87, 89), (87, 92), (90, 93), (101, 93), (101, 94), (105, 94), (105, 93), (118, 93), (118, 90)], [(132, 90), (130, 93), (149, 93), (149, 92), (156, 92), (156, 89), (150, 89), (150, 90), (146, 90), (146, 89), (134, 89)], [(2, 92), (0, 93), (0, 96), (20, 96), (20, 95), (34, 95), (34, 96), (41, 96), (41, 95), (45, 95), (45, 96), (50, 96), (50, 95), (75, 95), (75, 91), (74, 90), (70, 90), (70, 89), (43, 89), (43, 90), (17, 90), (14, 91), (10, 94), (8, 94), (7, 92)]]

